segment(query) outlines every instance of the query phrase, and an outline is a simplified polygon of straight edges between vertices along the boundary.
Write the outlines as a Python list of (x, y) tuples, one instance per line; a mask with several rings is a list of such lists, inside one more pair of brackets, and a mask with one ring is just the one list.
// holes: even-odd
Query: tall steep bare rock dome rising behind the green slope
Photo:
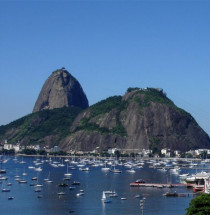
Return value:
[(33, 112), (70, 106), (86, 109), (89, 105), (80, 83), (62, 68), (53, 72), (44, 83)]

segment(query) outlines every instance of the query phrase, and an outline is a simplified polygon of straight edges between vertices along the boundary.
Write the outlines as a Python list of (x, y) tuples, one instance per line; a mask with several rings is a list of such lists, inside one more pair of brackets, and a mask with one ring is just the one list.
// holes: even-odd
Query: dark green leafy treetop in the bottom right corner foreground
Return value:
[(210, 214), (210, 194), (202, 194), (190, 202), (186, 215)]

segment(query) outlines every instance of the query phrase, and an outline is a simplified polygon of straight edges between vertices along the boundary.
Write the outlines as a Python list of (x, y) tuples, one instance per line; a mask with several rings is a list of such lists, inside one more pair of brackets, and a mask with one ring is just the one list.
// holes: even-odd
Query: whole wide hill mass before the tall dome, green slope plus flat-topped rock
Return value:
[(1, 126), (0, 139), (59, 144), (66, 151), (210, 148), (209, 136), (193, 117), (154, 88), (129, 88), (124, 96), (107, 98), (83, 111), (72, 107), (35, 112)]

